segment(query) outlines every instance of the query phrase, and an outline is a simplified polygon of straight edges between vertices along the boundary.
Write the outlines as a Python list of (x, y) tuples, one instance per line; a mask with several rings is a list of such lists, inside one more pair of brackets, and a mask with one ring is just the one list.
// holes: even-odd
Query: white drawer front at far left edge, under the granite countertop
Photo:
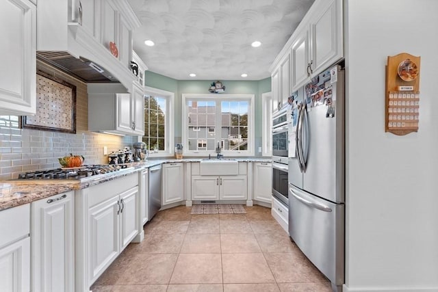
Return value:
[(0, 211), (0, 248), (30, 233), (30, 204)]

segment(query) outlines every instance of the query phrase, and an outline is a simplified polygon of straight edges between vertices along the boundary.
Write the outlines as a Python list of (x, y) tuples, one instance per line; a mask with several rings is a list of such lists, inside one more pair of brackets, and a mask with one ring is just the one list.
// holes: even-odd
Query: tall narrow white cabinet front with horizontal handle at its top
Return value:
[(74, 192), (31, 203), (32, 291), (75, 291)]

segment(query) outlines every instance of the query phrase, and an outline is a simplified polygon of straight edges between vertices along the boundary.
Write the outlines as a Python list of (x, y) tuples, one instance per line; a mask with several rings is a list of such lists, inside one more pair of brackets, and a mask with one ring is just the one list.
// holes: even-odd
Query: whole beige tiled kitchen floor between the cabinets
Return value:
[(160, 211), (92, 291), (329, 292), (330, 284), (264, 207), (246, 214)]

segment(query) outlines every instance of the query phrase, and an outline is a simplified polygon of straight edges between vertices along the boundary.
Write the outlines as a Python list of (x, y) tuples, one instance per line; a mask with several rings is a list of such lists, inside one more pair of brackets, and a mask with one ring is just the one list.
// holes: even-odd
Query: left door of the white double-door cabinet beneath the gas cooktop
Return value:
[(119, 196), (88, 210), (88, 283), (94, 282), (118, 256), (120, 242)]

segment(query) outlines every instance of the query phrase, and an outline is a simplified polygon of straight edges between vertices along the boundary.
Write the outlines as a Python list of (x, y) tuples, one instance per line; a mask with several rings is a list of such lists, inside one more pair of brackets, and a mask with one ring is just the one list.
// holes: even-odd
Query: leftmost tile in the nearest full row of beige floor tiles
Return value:
[(116, 284), (168, 284), (178, 254), (136, 254)]

